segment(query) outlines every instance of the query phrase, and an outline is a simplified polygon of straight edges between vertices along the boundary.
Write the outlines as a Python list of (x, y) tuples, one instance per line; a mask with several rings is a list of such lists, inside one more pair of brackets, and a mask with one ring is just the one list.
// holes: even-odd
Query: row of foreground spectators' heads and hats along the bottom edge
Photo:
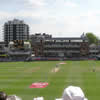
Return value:
[[(0, 92), (0, 100), (22, 100), (16, 95), (7, 96), (5, 92)], [(33, 100), (44, 100), (43, 97), (33, 98)], [(69, 86), (64, 89), (62, 98), (56, 98), (56, 100), (88, 100), (82, 89), (76, 86)]]

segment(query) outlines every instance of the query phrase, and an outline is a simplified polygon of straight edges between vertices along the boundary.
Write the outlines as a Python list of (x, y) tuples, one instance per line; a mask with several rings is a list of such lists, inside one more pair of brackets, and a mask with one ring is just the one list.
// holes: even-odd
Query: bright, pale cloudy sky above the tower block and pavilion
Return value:
[(83, 3), (76, 1), (2, 0), (0, 23), (3, 25), (8, 20), (18, 18), (29, 24), (30, 33), (47, 32), (62, 37), (80, 36), (83, 32), (99, 35), (100, 8), (87, 9), (87, 0)]

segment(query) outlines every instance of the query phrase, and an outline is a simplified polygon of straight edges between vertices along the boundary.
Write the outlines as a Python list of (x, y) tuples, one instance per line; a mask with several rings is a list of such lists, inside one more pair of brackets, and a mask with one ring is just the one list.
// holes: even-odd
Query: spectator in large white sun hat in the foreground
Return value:
[(80, 87), (69, 86), (64, 90), (62, 100), (88, 100)]

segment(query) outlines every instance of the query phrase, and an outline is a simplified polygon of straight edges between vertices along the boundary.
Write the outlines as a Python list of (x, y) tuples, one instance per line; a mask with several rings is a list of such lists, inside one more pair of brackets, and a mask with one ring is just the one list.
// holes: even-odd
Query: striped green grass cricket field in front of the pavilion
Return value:
[[(100, 62), (65, 61), (56, 73), (52, 69), (61, 61), (0, 63), (0, 90), (16, 94), (23, 100), (43, 96), (45, 100), (60, 98), (69, 85), (80, 86), (88, 100), (100, 100)], [(95, 67), (96, 72), (92, 72)], [(48, 82), (46, 88), (32, 88), (34, 82)]]

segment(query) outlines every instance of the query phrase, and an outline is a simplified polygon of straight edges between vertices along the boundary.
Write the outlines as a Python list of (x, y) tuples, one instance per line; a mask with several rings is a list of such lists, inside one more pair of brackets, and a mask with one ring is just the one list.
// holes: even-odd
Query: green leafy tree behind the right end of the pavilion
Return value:
[(98, 37), (96, 35), (94, 35), (93, 33), (86, 33), (86, 37), (88, 38), (89, 40), (89, 44), (98, 44)]

